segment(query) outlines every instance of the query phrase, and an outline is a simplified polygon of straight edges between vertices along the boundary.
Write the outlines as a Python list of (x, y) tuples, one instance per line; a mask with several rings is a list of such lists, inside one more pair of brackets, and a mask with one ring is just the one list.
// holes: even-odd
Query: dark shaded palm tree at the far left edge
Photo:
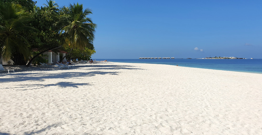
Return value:
[(24, 57), (25, 62), (29, 56), (29, 43), (19, 32), (31, 28), (26, 26), (31, 18), (25, 15), (26, 10), (19, 4), (1, 3), (0, 11), (3, 19), (0, 24), (1, 55), (8, 60), (11, 55), (18, 54), (19, 57)]

